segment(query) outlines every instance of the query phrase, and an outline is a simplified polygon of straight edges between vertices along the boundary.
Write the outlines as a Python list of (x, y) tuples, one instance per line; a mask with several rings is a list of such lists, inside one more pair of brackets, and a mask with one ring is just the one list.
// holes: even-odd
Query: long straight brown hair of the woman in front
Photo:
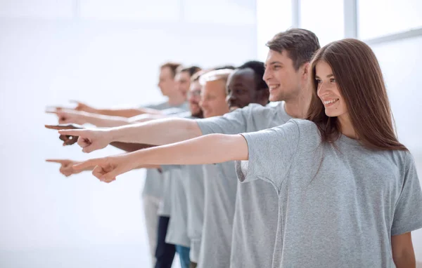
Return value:
[(407, 150), (395, 135), (390, 102), (378, 60), (371, 48), (357, 39), (329, 43), (317, 51), (312, 59), (309, 80), (312, 99), (307, 119), (318, 126), (322, 142), (337, 140), (341, 130), (337, 117), (326, 116), (324, 105), (316, 95), (318, 84), (315, 67), (319, 61), (327, 62), (333, 70), (359, 142), (369, 149)]

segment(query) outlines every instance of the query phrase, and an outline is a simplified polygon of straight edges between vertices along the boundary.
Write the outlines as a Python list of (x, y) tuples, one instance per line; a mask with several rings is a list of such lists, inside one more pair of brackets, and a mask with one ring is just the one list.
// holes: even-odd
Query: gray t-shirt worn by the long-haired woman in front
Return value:
[(395, 267), (391, 236), (422, 227), (422, 192), (409, 152), (373, 151), (341, 135), (322, 144), (311, 121), (243, 133), (246, 177), (274, 185), (273, 267)]

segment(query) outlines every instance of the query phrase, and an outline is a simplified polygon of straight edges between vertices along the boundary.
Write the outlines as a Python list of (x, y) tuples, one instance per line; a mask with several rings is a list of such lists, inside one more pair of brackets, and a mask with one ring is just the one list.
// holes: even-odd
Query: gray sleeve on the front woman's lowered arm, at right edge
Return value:
[(402, 192), (396, 203), (391, 235), (399, 235), (422, 228), (422, 192), (414, 159), (407, 154)]

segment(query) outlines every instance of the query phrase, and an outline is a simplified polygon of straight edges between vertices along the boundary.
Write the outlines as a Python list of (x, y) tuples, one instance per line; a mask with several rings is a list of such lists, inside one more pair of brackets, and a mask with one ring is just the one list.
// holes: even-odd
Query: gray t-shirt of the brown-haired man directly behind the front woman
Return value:
[[(204, 135), (238, 134), (279, 126), (290, 119), (284, 102), (279, 102), (275, 107), (250, 104), (197, 122)], [(238, 183), (230, 267), (271, 267), (278, 211), (276, 191), (268, 182)]]

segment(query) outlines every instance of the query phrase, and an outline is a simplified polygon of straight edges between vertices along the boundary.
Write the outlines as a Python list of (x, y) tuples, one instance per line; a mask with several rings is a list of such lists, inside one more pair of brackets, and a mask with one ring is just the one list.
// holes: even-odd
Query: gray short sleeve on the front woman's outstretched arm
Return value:
[(248, 163), (236, 161), (236, 173), (241, 182), (258, 178), (279, 187), (298, 149), (300, 131), (293, 120), (282, 126), (241, 134), (248, 143)]

